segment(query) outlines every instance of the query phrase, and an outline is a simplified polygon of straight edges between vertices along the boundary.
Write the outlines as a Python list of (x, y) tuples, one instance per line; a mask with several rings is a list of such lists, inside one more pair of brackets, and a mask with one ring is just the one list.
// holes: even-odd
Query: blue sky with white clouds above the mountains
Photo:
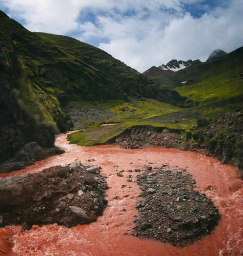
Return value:
[(0, 0), (35, 32), (68, 35), (144, 72), (243, 45), (243, 0)]

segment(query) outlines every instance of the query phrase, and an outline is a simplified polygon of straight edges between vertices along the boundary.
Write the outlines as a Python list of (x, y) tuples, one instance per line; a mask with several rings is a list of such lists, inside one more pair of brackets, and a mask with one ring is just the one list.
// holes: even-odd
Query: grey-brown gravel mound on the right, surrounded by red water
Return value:
[(210, 233), (220, 219), (212, 201), (193, 190), (196, 182), (185, 169), (163, 165), (138, 175), (137, 183), (143, 193), (137, 198), (135, 236), (186, 246)]

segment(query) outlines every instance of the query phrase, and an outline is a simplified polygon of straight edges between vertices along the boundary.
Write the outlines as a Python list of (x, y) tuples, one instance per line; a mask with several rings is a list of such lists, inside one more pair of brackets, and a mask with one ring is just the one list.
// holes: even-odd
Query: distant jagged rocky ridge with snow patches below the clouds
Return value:
[(188, 59), (187, 61), (184, 61), (184, 60), (177, 61), (177, 59), (172, 59), (166, 65), (162, 64), (159, 67), (153, 66), (149, 68), (148, 70), (144, 71), (143, 75), (159, 76), (163, 74), (173, 73), (199, 63), (201, 63), (199, 59), (195, 59), (195, 60)]

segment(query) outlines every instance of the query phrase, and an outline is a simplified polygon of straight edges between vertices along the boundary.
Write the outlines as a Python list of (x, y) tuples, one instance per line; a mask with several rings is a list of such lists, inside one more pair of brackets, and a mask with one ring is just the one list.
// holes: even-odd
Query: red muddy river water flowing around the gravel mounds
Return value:
[[(56, 146), (66, 153), (51, 156), (25, 170), (2, 174), (6, 177), (22, 173), (38, 172), (54, 165), (65, 165), (75, 160), (88, 164), (95, 158), (108, 178), (108, 207), (97, 222), (73, 228), (45, 225), (33, 226), (29, 231), (20, 227), (0, 228), (0, 237), (12, 236), (11, 249), (0, 240), (0, 256), (239, 256), (243, 254), (243, 181), (237, 179), (236, 168), (222, 165), (212, 157), (177, 149), (147, 148), (142, 150), (120, 149), (119, 146), (80, 147), (68, 144), (66, 134), (56, 138)], [(140, 194), (136, 183), (127, 182), (126, 176), (118, 177), (115, 170), (129, 170), (150, 164), (160, 167), (185, 168), (197, 182), (197, 189), (211, 198), (222, 218), (214, 231), (199, 242), (179, 248), (171, 244), (141, 240), (129, 235), (134, 226), (133, 215), (136, 197)], [(131, 164), (132, 163), (132, 164)], [(119, 167), (113, 167), (118, 165)], [(137, 173), (132, 173), (136, 175)], [(122, 184), (127, 185), (122, 189)], [(212, 190), (207, 190), (211, 186)], [(130, 187), (129, 187), (130, 186)], [(129, 197), (124, 197), (129, 195)], [(114, 200), (114, 196), (120, 199)], [(125, 208), (127, 211), (122, 210)]]

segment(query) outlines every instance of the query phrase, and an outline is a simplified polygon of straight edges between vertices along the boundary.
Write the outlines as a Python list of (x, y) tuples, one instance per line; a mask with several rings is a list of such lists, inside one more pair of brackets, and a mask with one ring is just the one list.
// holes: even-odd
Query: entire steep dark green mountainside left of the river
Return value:
[(32, 33), (1, 11), (0, 37), (0, 162), (30, 141), (54, 146), (54, 134), (71, 124), (63, 112), (70, 100), (146, 96), (195, 105), (96, 47)]

